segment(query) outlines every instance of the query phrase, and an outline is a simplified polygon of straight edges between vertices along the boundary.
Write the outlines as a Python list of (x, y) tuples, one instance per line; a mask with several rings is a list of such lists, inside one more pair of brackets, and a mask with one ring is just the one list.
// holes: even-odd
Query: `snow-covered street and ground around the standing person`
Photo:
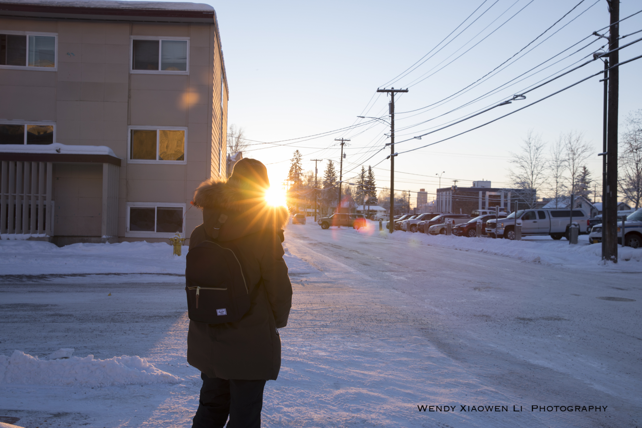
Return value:
[[(184, 256), (166, 244), (6, 242), (0, 370), (13, 357), (24, 370), (0, 373), (0, 421), (189, 427), (200, 379), (186, 363), (184, 284), (174, 276)], [(266, 385), (266, 427), (639, 425), (636, 257), (603, 266), (591, 259), (599, 246), (586, 243), (391, 236), (312, 221), (289, 225), (284, 246), (295, 295), (281, 374)], [(21, 276), (32, 268), (43, 276)], [(76, 357), (48, 357), (60, 348)], [(92, 367), (103, 368), (90, 386)], [(56, 373), (67, 386), (42, 377)]]

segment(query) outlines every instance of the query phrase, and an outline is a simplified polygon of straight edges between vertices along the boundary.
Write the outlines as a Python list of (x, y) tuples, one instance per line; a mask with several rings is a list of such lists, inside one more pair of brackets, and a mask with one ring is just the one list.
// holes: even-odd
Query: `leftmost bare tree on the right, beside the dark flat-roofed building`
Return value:
[(537, 204), (537, 189), (546, 182), (546, 157), (541, 135), (528, 130), (526, 138), (522, 140), (521, 153), (510, 153), (509, 160), (513, 167), (508, 170), (508, 179), (514, 187), (519, 189), (519, 198), (526, 201), (528, 208)]

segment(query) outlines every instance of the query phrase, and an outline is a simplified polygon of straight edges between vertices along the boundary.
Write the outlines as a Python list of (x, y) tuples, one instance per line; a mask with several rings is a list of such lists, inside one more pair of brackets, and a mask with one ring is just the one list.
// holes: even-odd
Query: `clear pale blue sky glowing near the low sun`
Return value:
[[(395, 160), (395, 189), (423, 188), (431, 200), (439, 185), (449, 186), (453, 180), (458, 180), (458, 186), (490, 180), (493, 187), (508, 187), (510, 153), (520, 151), (529, 130), (548, 146), (561, 134), (582, 133), (594, 149), (586, 165), (593, 178), (601, 176), (597, 153), (602, 151), (602, 76), (478, 130), (419, 148), (597, 73), (603, 69), (601, 60), (528, 92), (526, 99), (421, 140), (412, 137), (511, 99), (538, 81), (590, 60), (605, 42), (591, 36), (609, 24), (605, 0), (205, 3), (214, 7), (220, 25), (229, 124), (243, 127), (245, 137), (253, 140), (244, 156), (264, 162), (272, 184), (286, 178), (294, 150), (302, 152), (305, 170), (314, 169), (311, 159), (324, 159), (318, 166), (322, 175), (328, 159), (340, 160), (334, 139), (346, 138), (351, 141), (345, 147), (343, 179), (351, 180), (361, 165), (371, 165), (376, 166), (377, 185), (389, 186), (390, 160), (385, 158), (390, 149), (385, 148), (389, 142), (385, 134), (390, 128), (381, 121), (357, 117), (389, 120), (390, 99), (376, 92), (383, 87), (408, 88), (408, 93), (395, 97), (395, 151), (400, 153)], [(641, 9), (638, 1), (623, 1), (620, 17)], [(621, 22), (621, 35), (638, 30), (642, 30), (642, 13)], [(631, 35), (620, 44), (640, 37), (642, 33)], [(620, 51), (620, 60), (641, 54), (642, 43), (634, 44)], [(639, 76), (642, 60), (620, 68), (620, 123), (629, 112), (642, 108)], [(319, 133), (326, 134), (300, 138)], [(410, 141), (401, 142), (406, 139)], [(419, 149), (401, 153), (415, 148)], [(601, 180), (598, 189), (600, 185)]]

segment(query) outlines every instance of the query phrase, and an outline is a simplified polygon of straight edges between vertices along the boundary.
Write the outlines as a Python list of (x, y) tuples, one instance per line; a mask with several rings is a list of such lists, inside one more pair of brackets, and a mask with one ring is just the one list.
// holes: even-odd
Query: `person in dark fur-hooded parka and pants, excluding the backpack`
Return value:
[(279, 375), (277, 329), (288, 324), (292, 303), (281, 244), (289, 214), (285, 207), (266, 203), (268, 187), (266, 167), (244, 158), (227, 182), (206, 180), (194, 194), (192, 203), (203, 210), (203, 224), (192, 232), (189, 248), (214, 239), (223, 247), (236, 246), (251, 304), (236, 322), (189, 321), (187, 362), (203, 379), (193, 427), (223, 427), (228, 415), (229, 428), (259, 427), (263, 387)]

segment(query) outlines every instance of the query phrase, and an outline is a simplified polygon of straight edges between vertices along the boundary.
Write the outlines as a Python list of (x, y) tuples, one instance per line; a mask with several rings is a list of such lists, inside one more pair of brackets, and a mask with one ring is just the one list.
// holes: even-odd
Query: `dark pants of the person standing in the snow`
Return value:
[(223, 428), (228, 415), (227, 428), (261, 427), (265, 381), (226, 381), (204, 373), (201, 379), (203, 387), (192, 428)]

